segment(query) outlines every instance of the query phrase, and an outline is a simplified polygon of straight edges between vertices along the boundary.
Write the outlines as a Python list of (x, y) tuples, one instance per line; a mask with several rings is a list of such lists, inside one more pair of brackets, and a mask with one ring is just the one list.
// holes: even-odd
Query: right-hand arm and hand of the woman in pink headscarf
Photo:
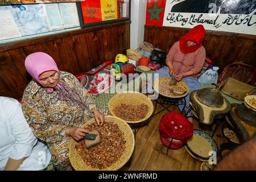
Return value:
[(97, 109), (96, 102), (92, 94), (88, 93), (88, 90), (82, 87), (81, 83), (79, 82), (79, 80), (77, 80), (75, 76), (72, 75), (72, 78), (74, 80), (75, 92), (79, 94), (79, 97), (81, 98), (81, 100), (88, 107), (88, 109), (94, 114), (97, 124), (102, 125), (105, 120), (105, 117), (104, 117), (104, 114), (102, 114), (100, 110)]

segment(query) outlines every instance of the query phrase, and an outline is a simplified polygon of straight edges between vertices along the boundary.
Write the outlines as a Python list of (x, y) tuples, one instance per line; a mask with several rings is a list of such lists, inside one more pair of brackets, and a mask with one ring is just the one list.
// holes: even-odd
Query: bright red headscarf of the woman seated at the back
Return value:
[[(205, 30), (204, 26), (199, 24), (195, 27), (193, 27), (187, 35), (180, 38), (180, 51), (183, 53), (191, 53), (195, 52), (197, 49), (199, 49), (201, 46), (203, 46), (203, 40), (204, 40)], [(195, 46), (187, 46), (186, 42), (188, 40), (191, 40), (195, 43), (197, 43)]]

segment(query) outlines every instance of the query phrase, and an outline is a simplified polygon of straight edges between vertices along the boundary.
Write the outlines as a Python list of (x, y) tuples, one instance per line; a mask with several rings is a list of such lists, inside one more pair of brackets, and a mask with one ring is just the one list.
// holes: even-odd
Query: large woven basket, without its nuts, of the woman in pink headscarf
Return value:
[[(126, 143), (125, 143), (125, 151), (123, 151), (121, 158), (119, 158), (117, 162), (113, 163), (111, 166), (107, 168), (104, 168), (104, 169), (92, 168), (90, 166), (87, 166), (84, 160), (82, 160), (81, 156), (79, 155), (79, 153), (75, 148), (77, 142), (76, 140), (72, 139), (69, 145), (69, 160), (71, 162), (72, 167), (76, 171), (100, 171), (100, 170), (114, 171), (123, 167), (123, 165), (125, 165), (128, 162), (128, 160), (131, 158), (131, 155), (133, 154), (133, 150), (134, 150), (134, 145), (135, 145), (134, 134), (133, 134), (133, 130), (131, 130), (131, 127), (121, 119), (110, 116), (110, 115), (105, 116), (105, 121), (116, 123), (119, 129), (123, 132)], [(96, 121), (94, 119), (90, 119), (81, 127), (86, 127), (92, 124), (93, 122), (96, 122)]]

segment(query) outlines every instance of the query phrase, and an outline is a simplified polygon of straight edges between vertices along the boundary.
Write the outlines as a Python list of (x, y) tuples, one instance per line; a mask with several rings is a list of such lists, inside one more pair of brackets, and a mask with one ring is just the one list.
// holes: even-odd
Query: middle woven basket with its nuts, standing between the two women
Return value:
[(127, 123), (146, 121), (154, 106), (148, 97), (139, 92), (123, 92), (112, 97), (108, 104), (110, 113)]

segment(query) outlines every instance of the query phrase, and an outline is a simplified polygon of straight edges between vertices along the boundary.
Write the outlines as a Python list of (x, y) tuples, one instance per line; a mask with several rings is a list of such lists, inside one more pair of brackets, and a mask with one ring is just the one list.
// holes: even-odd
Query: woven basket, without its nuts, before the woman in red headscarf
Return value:
[[(168, 95), (166, 95), (166, 94), (164, 94), (164, 93), (162, 93), (162, 92), (159, 92), (159, 86), (155, 86), (155, 83), (164, 82), (164, 81), (169, 81), (169, 82), (170, 82), (171, 80), (172, 80), (172, 78), (167, 77), (167, 76), (159, 77), (158, 79), (156, 79), (156, 80), (152, 83), (152, 86), (153, 86), (153, 88), (154, 88), (154, 90), (155, 90), (156, 92), (158, 92), (160, 95), (162, 95), (162, 96), (164, 96), (164, 97), (169, 97), (169, 98), (181, 98), (181, 97), (187, 96), (187, 94), (189, 93), (189, 87), (188, 87), (188, 85), (187, 85), (184, 81), (178, 81), (178, 82), (177, 82), (177, 85), (179, 85), (179, 86), (184, 86), (184, 87), (186, 88), (186, 90), (187, 90), (187, 92), (185, 92), (184, 94), (179, 95), (179, 96), (168, 96)], [(168, 86), (168, 88), (170, 88), (170, 86)]]

